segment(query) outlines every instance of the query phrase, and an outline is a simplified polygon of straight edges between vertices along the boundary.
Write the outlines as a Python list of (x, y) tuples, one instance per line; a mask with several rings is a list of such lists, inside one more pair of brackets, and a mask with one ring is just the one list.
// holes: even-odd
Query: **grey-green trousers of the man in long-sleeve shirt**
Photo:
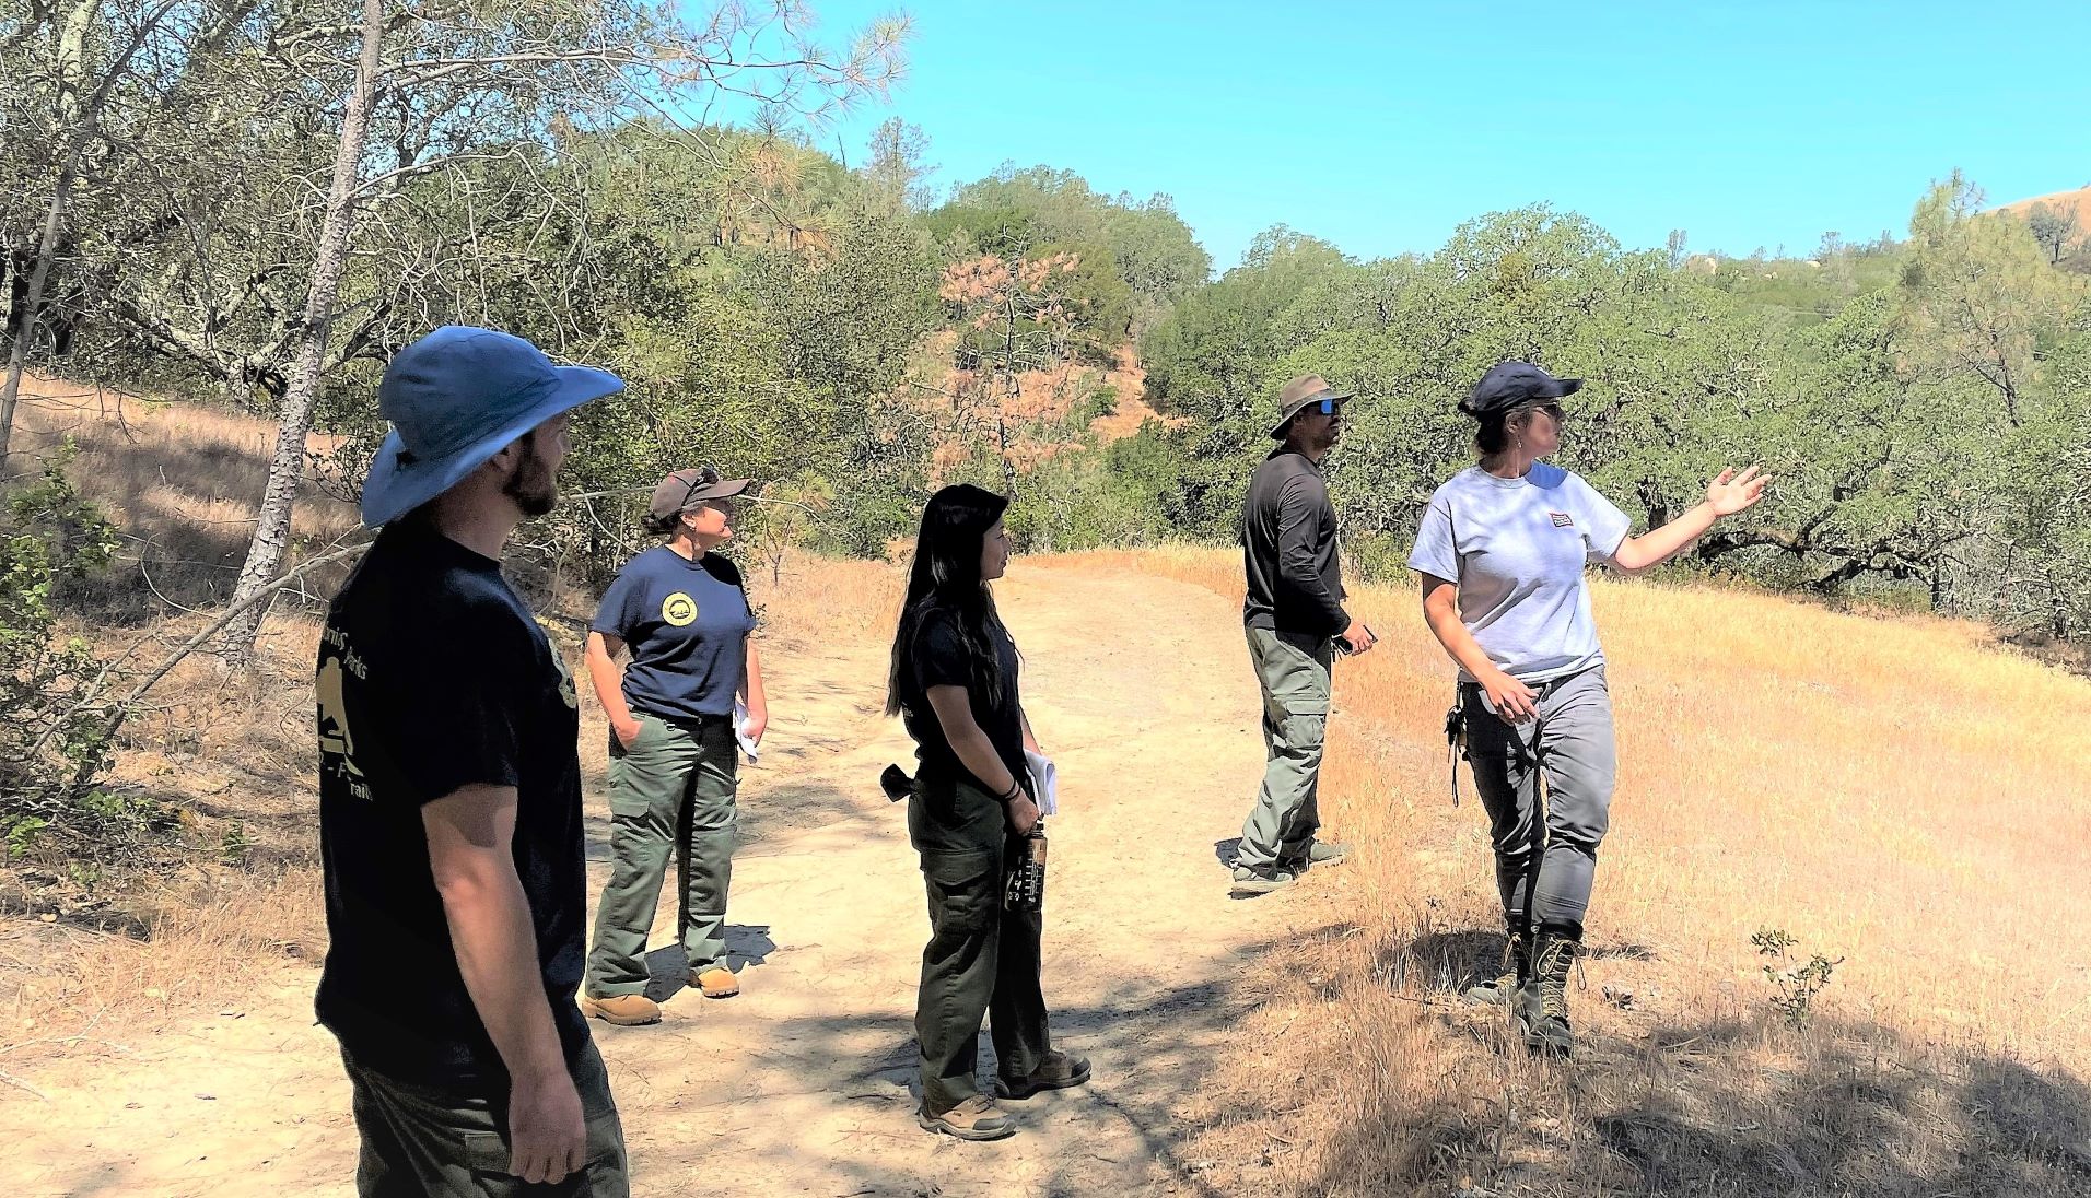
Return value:
[(1263, 688), (1263, 788), (1242, 824), (1236, 866), (1271, 870), (1307, 853), (1322, 828), (1317, 801), (1322, 742), (1328, 736), (1330, 663), (1326, 636), (1248, 629), (1248, 661)]

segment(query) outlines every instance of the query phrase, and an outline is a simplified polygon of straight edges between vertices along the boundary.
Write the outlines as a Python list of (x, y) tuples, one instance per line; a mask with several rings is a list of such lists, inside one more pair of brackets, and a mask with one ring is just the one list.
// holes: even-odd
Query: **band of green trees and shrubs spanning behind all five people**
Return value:
[[(4, 113), (48, 134), (6, 161), (10, 303), (56, 211), (50, 180), (77, 182), (29, 349), (71, 374), (274, 408), (353, 38), (270, 0), (180, 8), (186, 25), (153, 36), (128, 8), (79, 10), (100, 23), (69, 42), (44, 8), (0, 2), (0, 50), (25, 79)], [(953, 477), (1012, 487), (1031, 548), (1232, 539), (1273, 397), (1311, 370), (1359, 395), (1332, 458), (1351, 552), (1399, 573), (1420, 506), (1470, 460), (1453, 404), (1522, 358), (1591, 381), (1562, 460), (1646, 525), (1725, 464), (1777, 475), (1679, 569), (1892, 590), (2064, 638), (2091, 621), (2091, 309), (2060, 209), (1980, 215), (1955, 176), (1905, 240), (1823, 234), (1805, 259), (1690, 255), (1681, 230), (1635, 251), (1547, 207), (1384, 261), (1280, 226), (1213, 278), (1161, 194), (1006, 165), (933, 197), (926, 138), (897, 119), (855, 169), (815, 151), (792, 109), (861, 92), (876, 46), (726, 128), (667, 115), (700, 109), (648, 88), (700, 92), (700, 73), (644, 75), (644, 52), (571, 69), (493, 52), (652, 46), (669, 10), (470, 13), (397, 13), (389, 54), (475, 65), (389, 82), (372, 115), (318, 427), (349, 437), (335, 466), (353, 489), (381, 433), (376, 370), (441, 322), (619, 370), (629, 389), (581, 416), (579, 500), (533, 537), (542, 565), (604, 577), (636, 546), (636, 498), (690, 462), (776, 483), (780, 502), (744, 521), (772, 560), (882, 552)], [(690, 52), (726, 61), (763, 36), (746, 10), (719, 13), (728, 31)], [(144, 50), (125, 61), (134, 36)], [(96, 71), (121, 102), (90, 119), (79, 79)], [(1135, 399), (1112, 374), (1129, 347), (1161, 420), (1106, 441), (1092, 422)]]

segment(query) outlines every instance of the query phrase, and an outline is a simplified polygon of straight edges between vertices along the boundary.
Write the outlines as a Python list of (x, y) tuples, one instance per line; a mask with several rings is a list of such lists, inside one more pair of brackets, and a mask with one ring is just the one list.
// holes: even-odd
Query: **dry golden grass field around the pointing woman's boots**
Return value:
[[(1242, 592), (1217, 550), (1083, 560)], [(1357, 853), (1278, 899), (1324, 930), (1255, 972), (1194, 1104), (1213, 1188), (2091, 1192), (2091, 682), (1963, 623), (1598, 581), (1623, 767), (1583, 1052), (1545, 1064), (1457, 1001), (1501, 937), (1483, 813), (1447, 790), (1451, 667), (1411, 590), (1351, 606), (1382, 640), (1338, 665), (1324, 820)], [(1767, 926), (1844, 958), (1805, 1029), (1769, 1006)]]

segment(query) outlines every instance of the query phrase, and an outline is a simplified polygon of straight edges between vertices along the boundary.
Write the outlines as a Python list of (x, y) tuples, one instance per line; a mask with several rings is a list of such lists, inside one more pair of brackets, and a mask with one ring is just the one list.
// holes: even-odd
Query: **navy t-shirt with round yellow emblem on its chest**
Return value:
[(631, 650), (625, 700), (634, 711), (663, 719), (734, 713), (755, 631), (734, 562), (650, 548), (617, 573), (590, 627)]

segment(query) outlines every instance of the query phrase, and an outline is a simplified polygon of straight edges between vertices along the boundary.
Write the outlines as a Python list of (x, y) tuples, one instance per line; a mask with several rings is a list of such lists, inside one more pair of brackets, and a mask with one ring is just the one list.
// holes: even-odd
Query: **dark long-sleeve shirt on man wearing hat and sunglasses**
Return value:
[(1242, 502), (1242, 621), (1307, 636), (1351, 627), (1336, 562), (1336, 506), (1311, 458), (1278, 450), (1257, 466)]

